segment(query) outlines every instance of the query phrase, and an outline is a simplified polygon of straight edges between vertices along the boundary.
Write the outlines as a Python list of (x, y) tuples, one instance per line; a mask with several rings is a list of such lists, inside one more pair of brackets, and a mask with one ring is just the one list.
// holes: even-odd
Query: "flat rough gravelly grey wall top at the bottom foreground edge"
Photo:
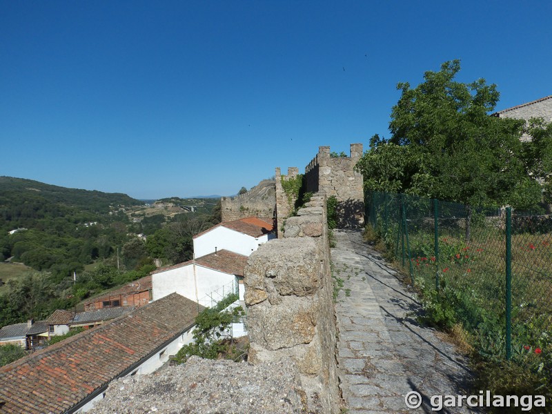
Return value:
[(306, 413), (298, 384), (290, 362), (252, 365), (190, 357), (151, 375), (115, 380), (89, 413)]

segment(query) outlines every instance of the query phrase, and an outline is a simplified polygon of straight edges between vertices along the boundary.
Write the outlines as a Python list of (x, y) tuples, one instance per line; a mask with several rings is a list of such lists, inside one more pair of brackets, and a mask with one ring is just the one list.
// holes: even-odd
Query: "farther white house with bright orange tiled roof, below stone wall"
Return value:
[(246, 217), (235, 221), (224, 221), (193, 237), (194, 255), (201, 257), (219, 250), (229, 250), (249, 256), (261, 244), (274, 239), (274, 225), (271, 219)]

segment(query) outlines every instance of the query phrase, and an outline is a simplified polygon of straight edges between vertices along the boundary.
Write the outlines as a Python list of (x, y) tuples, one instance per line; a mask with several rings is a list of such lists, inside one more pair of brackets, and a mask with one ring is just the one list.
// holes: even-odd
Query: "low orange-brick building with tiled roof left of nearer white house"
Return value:
[(84, 310), (97, 311), (117, 306), (135, 306), (139, 308), (151, 302), (151, 289), (151, 275), (148, 275), (130, 282), (121, 288), (88, 299), (84, 302)]

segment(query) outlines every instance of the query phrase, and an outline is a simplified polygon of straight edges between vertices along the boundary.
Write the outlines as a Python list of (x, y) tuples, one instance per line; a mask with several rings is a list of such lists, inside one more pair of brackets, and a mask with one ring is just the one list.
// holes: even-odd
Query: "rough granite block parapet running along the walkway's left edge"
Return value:
[[(277, 181), (278, 182), (278, 181)], [(292, 361), (310, 412), (338, 413), (336, 326), (324, 196), (286, 219), (284, 237), (253, 252), (245, 302), (254, 364)]]

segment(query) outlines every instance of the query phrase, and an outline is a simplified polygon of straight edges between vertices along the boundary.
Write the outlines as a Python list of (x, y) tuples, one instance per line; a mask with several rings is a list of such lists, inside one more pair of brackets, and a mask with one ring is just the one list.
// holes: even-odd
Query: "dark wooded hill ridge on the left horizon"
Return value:
[(79, 190), (44, 184), (32, 179), (0, 177), (0, 206), (10, 202), (48, 201), (63, 206), (73, 206), (81, 210), (107, 213), (117, 206), (138, 206), (143, 201), (121, 193)]

